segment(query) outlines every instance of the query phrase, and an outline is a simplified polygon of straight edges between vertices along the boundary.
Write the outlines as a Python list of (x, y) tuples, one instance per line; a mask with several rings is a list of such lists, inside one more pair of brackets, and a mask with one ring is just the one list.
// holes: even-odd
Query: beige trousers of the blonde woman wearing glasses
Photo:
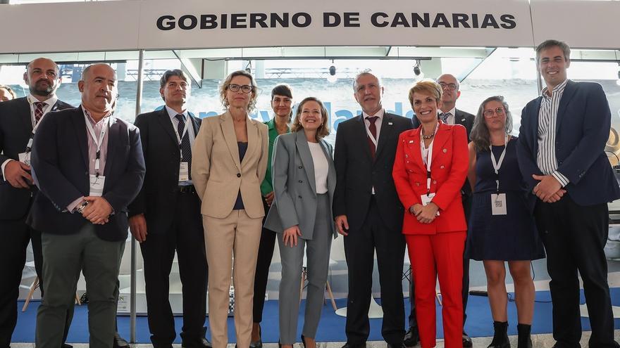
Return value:
[(235, 288), (237, 347), (248, 348), (252, 340), (254, 272), (263, 219), (252, 219), (245, 210), (233, 210), (224, 219), (203, 215), (202, 224), (206, 261), (209, 263), (209, 326), (213, 348), (225, 348), (228, 344), (231, 270)]

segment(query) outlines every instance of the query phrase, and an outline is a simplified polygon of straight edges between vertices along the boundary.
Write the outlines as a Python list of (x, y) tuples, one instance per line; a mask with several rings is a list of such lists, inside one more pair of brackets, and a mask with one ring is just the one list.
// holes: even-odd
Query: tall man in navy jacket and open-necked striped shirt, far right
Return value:
[(566, 79), (571, 51), (562, 41), (536, 48), (547, 85), (521, 113), (517, 155), (551, 276), (554, 347), (580, 347), (579, 279), (583, 280), (592, 335), (590, 347), (619, 347), (603, 247), (607, 202), (620, 188), (605, 155), (611, 112), (600, 84)]

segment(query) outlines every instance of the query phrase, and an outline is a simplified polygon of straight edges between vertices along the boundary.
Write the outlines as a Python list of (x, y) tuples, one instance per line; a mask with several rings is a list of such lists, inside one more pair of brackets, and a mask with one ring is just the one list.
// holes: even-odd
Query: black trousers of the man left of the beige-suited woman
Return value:
[[(149, 330), (154, 347), (170, 347), (176, 337), (168, 296), (175, 251), (182, 283), (183, 326), (180, 336), (190, 346), (205, 334), (206, 282), (209, 268), (204, 250), (200, 202), (194, 191), (178, 193), (171, 228), (164, 235), (148, 234), (140, 243), (144, 258)], [(148, 231), (149, 226), (147, 226)]]

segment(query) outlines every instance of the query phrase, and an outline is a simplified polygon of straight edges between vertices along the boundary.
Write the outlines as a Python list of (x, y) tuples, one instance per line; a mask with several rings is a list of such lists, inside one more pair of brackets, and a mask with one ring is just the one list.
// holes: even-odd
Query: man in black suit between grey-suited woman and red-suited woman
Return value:
[(333, 211), (338, 233), (345, 236), (349, 268), (344, 347), (366, 347), (375, 251), (383, 307), (381, 333), (390, 347), (402, 347), (404, 209), (392, 179), (392, 165), (398, 136), (411, 129), (411, 120), (383, 110), (383, 86), (371, 72), (357, 75), (353, 89), (363, 112), (338, 125), (334, 151)]

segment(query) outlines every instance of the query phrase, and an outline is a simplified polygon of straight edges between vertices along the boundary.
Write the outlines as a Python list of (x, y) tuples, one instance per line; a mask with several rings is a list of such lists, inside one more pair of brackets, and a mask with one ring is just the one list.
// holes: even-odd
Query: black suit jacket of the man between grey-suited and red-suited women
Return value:
[(390, 230), (401, 233), (404, 209), (396, 193), (392, 167), (398, 136), (407, 129), (411, 129), (411, 120), (386, 112), (373, 159), (361, 115), (338, 125), (333, 212), (335, 217), (347, 215), (349, 228), (359, 229), (364, 224), (374, 186), (383, 222)]

